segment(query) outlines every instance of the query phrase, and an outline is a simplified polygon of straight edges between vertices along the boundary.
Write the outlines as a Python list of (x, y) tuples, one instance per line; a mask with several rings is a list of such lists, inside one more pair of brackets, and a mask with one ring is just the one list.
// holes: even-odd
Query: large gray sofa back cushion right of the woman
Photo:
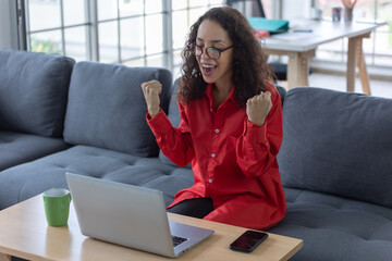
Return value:
[(392, 208), (392, 99), (287, 91), (278, 154), (283, 186)]

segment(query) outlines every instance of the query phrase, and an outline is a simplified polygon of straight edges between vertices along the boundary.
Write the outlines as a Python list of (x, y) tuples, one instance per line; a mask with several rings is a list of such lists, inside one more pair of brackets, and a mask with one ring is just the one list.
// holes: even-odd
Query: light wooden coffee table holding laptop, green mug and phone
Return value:
[[(303, 240), (269, 234), (252, 253), (235, 252), (229, 245), (246, 228), (169, 213), (171, 221), (215, 229), (216, 233), (176, 260), (287, 260)], [(73, 206), (66, 226), (47, 225), (42, 195), (0, 211), (0, 261), (11, 256), (27, 260), (170, 260), (85, 237)]]

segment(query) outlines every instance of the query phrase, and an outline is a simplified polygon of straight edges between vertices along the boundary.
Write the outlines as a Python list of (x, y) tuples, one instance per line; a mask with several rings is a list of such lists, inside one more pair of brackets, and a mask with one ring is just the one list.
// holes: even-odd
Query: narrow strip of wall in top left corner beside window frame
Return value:
[(15, 2), (15, 0), (0, 0), (0, 48), (17, 49)]

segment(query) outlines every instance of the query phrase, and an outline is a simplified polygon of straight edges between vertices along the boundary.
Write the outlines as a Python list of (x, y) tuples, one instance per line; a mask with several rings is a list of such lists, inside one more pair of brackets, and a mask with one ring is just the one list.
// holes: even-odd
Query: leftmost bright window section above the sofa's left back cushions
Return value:
[(27, 47), (87, 60), (88, 24), (79, 0), (26, 0)]

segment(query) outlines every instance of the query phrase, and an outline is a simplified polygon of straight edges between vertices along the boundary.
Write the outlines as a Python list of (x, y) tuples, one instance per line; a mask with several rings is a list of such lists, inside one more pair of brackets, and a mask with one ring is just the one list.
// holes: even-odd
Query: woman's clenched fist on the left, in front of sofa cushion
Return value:
[(159, 95), (162, 91), (162, 85), (158, 80), (149, 80), (142, 84), (142, 89), (147, 103), (148, 114), (156, 116), (159, 111)]

